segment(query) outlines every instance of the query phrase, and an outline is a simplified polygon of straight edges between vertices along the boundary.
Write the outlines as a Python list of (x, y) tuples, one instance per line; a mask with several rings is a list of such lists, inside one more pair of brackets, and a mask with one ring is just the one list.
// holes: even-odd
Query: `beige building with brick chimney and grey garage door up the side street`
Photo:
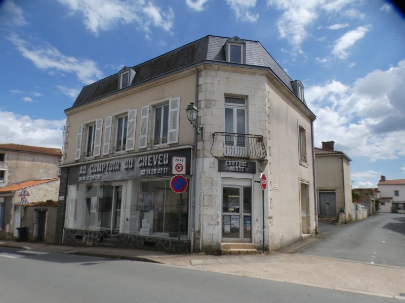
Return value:
[(334, 141), (314, 148), (318, 216), (338, 223), (353, 219), (350, 161), (343, 151), (335, 150)]

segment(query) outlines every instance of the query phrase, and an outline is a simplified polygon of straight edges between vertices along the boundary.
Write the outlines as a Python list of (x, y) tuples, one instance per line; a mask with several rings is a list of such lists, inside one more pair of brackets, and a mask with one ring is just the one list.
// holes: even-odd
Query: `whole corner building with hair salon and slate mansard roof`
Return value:
[(277, 250), (315, 232), (315, 116), (258, 41), (206, 36), (85, 86), (65, 113), (57, 242)]

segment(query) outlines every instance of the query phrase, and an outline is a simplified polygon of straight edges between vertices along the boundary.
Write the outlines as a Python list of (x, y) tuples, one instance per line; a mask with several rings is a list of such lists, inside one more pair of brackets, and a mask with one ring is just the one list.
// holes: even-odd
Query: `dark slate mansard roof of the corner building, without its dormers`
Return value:
[[(229, 38), (208, 35), (174, 49), (169, 53), (134, 66), (132, 68), (136, 71), (136, 75), (131, 85), (141, 84), (145, 81), (168, 75), (181, 69), (186, 69), (194, 64), (200, 64), (204, 61), (240, 65), (237, 63), (226, 62), (224, 45), (227, 40), (229, 40)], [(277, 64), (277, 62), (275, 62), (260, 42), (250, 40), (243, 41), (246, 43), (246, 64), (243, 65), (270, 69), (290, 91), (294, 92), (291, 83), (292, 79)], [(118, 90), (118, 79), (119, 73), (116, 73), (83, 87), (82, 91), (77, 96), (73, 107), (85, 104), (91, 100), (95, 100)], [(303, 103), (305, 104), (305, 101)]]

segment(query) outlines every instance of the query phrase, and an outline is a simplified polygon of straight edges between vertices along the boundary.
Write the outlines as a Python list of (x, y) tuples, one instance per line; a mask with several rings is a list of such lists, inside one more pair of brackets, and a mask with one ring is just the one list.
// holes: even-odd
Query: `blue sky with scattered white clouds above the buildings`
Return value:
[(0, 2), (0, 143), (62, 147), (84, 85), (206, 35), (260, 41), (305, 87), (353, 187), (405, 179), (405, 22), (379, 0)]

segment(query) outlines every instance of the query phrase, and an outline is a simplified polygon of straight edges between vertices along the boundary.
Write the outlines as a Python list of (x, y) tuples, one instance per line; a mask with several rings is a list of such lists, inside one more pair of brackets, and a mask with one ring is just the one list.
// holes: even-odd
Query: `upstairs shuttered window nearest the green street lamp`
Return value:
[[(180, 98), (168, 102), (147, 105), (141, 109), (139, 148), (151, 145), (173, 144), (179, 141)], [(149, 115), (151, 133), (149, 134)], [(148, 136), (150, 139), (148, 139)]]

